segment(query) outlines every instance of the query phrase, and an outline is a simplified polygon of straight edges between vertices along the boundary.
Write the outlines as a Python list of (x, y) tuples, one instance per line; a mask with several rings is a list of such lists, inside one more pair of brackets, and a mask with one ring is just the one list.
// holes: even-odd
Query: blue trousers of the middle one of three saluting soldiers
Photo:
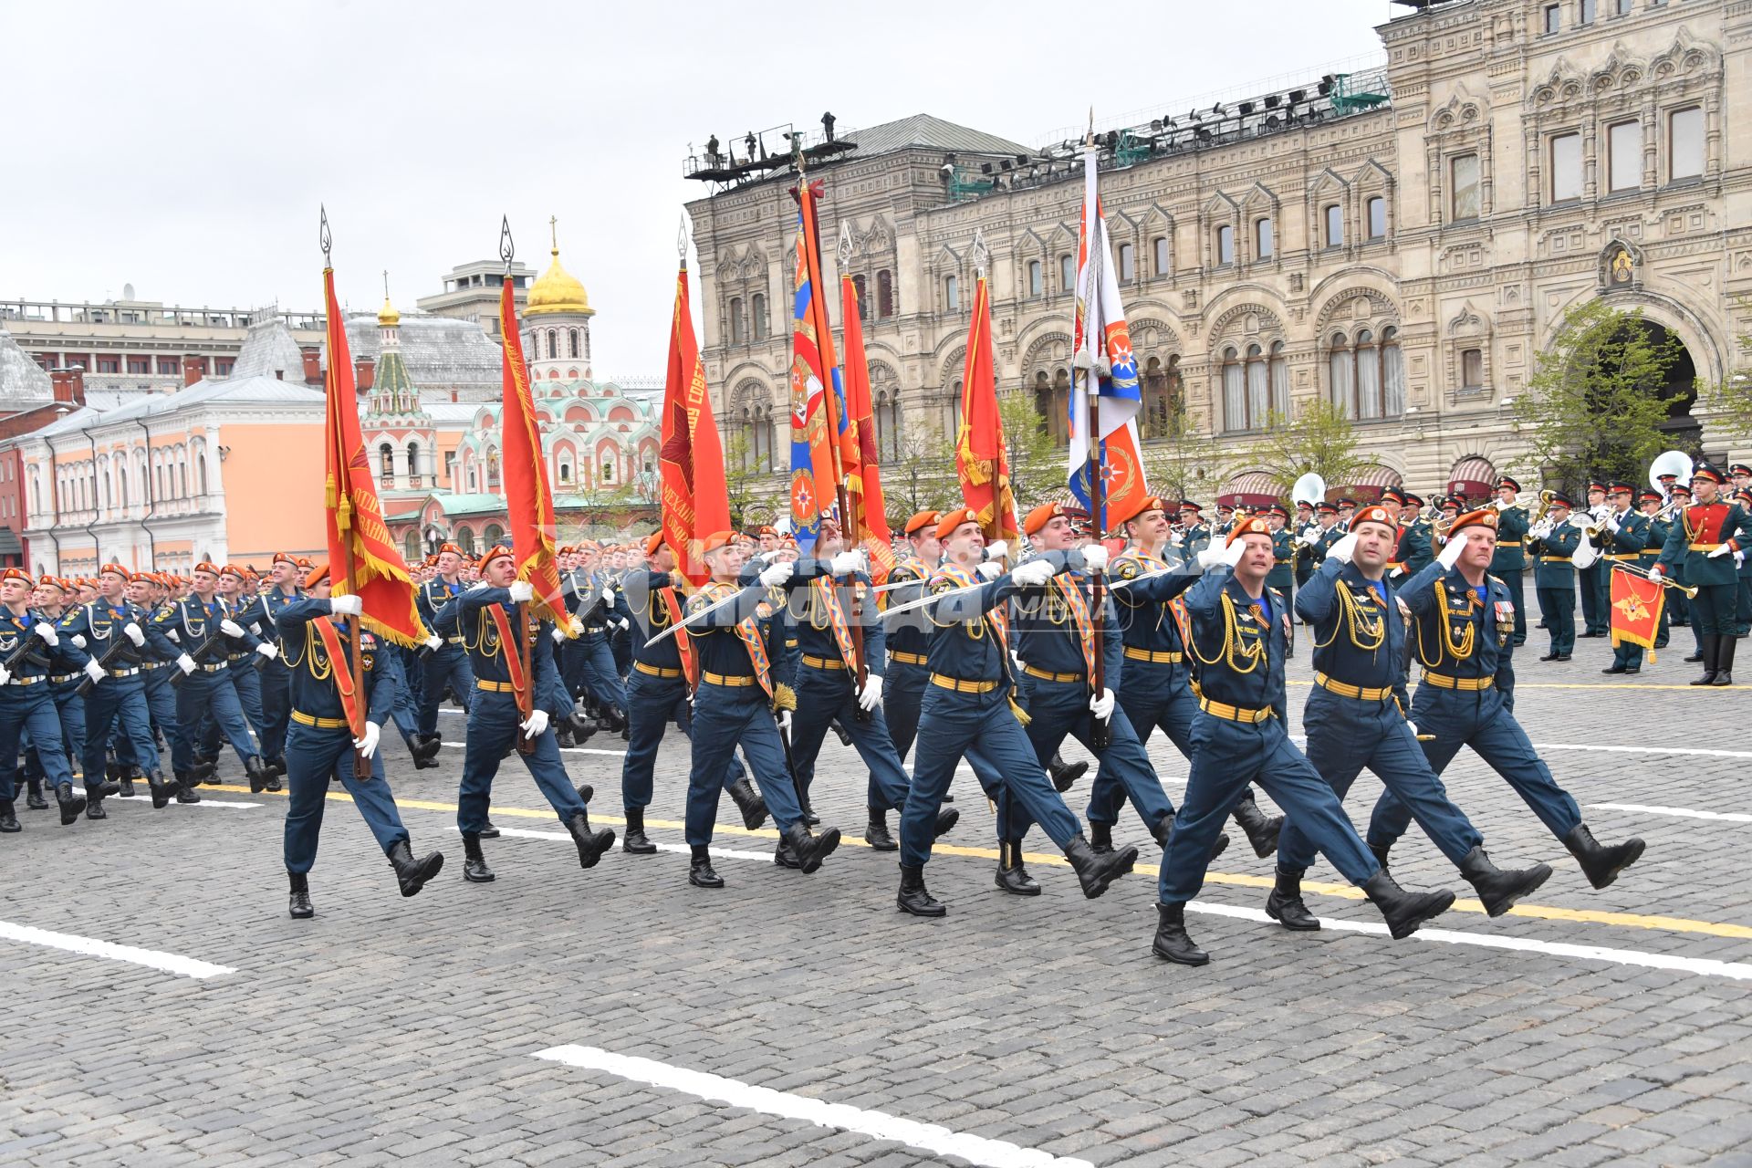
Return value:
[[(1449, 800), (1442, 779), (1417, 749), (1417, 735), (1391, 697), (1365, 702), (1316, 686), (1302, 711), (1302, 725), (1309, 728), (1309, 762), (1340, 802), (1356, 776), (1368, 767), (1410, 809), (1417, 827), (1454, 865), (1484, 844), (1484, 835), (1472, 827), (1466, 813)], [(1284, 830), (1277, 837), (1277, 863), (1286, 869), (1314, 863), (1314, 841), (1296, 827), (1295, 816), (1284, 820)]]

